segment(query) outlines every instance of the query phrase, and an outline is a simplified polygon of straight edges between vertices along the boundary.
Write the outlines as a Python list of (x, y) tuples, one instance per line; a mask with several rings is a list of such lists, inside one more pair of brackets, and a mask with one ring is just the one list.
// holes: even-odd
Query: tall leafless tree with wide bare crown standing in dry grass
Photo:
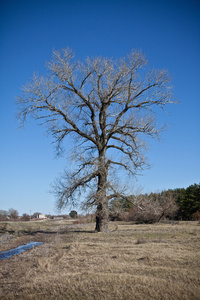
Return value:
[(46, 124), (59, 153), (65, 138), (73, 137), (76, 163), (54, 185), (57, 206), (76, 205), (85, 191), (85, 206), (96, 207), (96, 231), (106, 231), (108, 203), (121, 194), (111, 172), (143, 170), (143, 137), (158, 137), (157, 108), (173, 102), (170, 77), (149, 70), (139, 51), (84, 61), (70, 49), (54, 51), (47, 69), (46, 77), (34, 74), (24, 86), (19, 116), (22, 124), (28, 115)]

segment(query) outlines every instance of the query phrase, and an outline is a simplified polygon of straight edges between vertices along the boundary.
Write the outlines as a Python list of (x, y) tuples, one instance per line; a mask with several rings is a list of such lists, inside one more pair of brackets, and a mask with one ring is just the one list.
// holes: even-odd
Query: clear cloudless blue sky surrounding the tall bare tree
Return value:
[(17, 129), (16, 96), (33, 71), (45, 72), (53, 49), (68, 46), (80, 58), (141, 49), (152, 67), (169, 70), (180, 104), (159, 116), (169, 128), (151, 143), (152, 168), (132, 182), (133, 191), (199, 183), (199, 1), (0, 0), (0, 209), (55, 213), (48, 191), (67, 157), (55, 158), (51, 138), (34, 121)]

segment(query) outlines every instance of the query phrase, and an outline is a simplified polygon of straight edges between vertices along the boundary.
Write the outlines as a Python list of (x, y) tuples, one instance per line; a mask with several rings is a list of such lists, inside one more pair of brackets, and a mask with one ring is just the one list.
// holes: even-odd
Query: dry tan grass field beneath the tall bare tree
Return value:
[(44, 242), (0, 261), (0, 299), (200, 299), (198, 222), (109, 226), (0, 223), (0, 252)]

